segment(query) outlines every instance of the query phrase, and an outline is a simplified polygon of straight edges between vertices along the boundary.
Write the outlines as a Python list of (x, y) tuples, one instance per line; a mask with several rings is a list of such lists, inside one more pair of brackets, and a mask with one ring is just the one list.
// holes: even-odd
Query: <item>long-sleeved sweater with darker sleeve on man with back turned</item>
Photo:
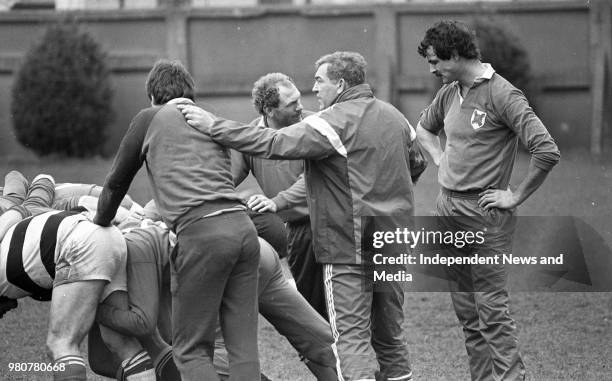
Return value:
[(132, 120), (100, 195), (99, 220), (110, 222), (143, 163), (162, 219), (177, 233), (207, 214), (243, 206), (229, 150), (188, 125), (176, 103), (193, 101), (177, 98)]

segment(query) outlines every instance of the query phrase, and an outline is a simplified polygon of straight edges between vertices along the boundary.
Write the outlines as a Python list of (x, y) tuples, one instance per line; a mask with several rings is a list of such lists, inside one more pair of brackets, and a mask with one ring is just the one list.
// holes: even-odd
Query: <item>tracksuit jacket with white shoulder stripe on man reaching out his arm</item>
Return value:
[(319, 263), (362, 263), (362, 216), (388, 216), (406, 226), (414, 214), (409, 165), (414, 130), (367, 84), (347, 89), (331, 107), (279, 130), (217, 119), (210, 134), (250, 155), (305, 159)]

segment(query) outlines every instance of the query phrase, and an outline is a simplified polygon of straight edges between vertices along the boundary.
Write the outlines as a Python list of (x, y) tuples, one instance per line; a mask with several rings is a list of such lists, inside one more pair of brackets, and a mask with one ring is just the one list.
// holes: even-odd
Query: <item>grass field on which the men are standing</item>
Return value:
[[(513, 185), (524, 175), (520, 157)], [(11, 159), (0, 173), (18, 169), (33, 177), (50, 173), (57, 182), (102, 183), (111, 161)], [(429, 215), (437, 193), (435, 169), (429, 168), (416, 189), (417, 213)], [(139, 173), (130, 194), (140, 202), (151, 193)], [(519, 214), (583, 216), (612, 244), (612, 161), (594, 161), (564, 153), (547, 182)], [(610, 275), (612, 277), (612, 274)], [(530, 380), (612, 380), (612, 293), (517, 292), (512, 313)], [(405, 332), (416, 380), (468, 380), (462, 333), (446, 293), (406, 294)], [(45, 350), (48, 304), (30, 299), (0, 320), (0, 380), (46, 380), (49, 374), (8, 371), (9, 362), (48, 362)], [(265, 321), (260, 324), (264, 372), (274, 380), (313, 380), (289, 344)], [(90, 374), (93, 380), (104, 378)]]

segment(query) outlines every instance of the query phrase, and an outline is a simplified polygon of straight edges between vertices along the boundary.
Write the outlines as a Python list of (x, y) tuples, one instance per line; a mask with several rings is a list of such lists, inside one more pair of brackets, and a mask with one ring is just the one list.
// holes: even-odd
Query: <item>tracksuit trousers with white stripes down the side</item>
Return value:
[(324, 264), (323, 271), (338, 380), (411, 380), (400, 284), (375, 292), (372, 274), (361, 265)]

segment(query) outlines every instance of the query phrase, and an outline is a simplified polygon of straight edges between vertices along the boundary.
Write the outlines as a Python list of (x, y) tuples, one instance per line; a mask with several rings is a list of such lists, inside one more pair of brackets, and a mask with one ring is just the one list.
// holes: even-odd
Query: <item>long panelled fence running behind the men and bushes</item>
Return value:
[[(610, 138), (612, 6), (604, 0), (550, 3), (406, 3), (362, 6), (155, 10), (15, 11), (0, 14), (0, 155), (19, 155), (10, 117), (13, 78), (47, 24), (69, 14), (108, 52), (117, 117), (106, 151), (113, 153), (130, 119), (148, 101), (144, 80), (157, 58), (180, 59), (196, 78), (198, 99), (221, 115), (255, 116), (253, 82), (281, 71), (292, 76), (306, 107), (314, 61), (336, 50), (361, 52), (379, 98), (413, 123), (439, 83), (417, 45), (428, 26), (452, 18), (489, 18), (526, 48), (536, 110), (563, 147), (604, 151)], [(32, 100), (33, 102), (40, 100)]]

